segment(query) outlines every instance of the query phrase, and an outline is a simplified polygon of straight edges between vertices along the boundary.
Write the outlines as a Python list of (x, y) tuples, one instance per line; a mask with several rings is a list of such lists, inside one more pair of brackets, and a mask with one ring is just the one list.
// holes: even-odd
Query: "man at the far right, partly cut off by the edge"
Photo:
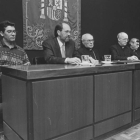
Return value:
[(132, 51), (132, 54), (137, 56), (138, 59), (140, 59), (140, 50), (139, 48), (139, 39), (137, 38), (132, 38), (129, 42), (130, 44), (130, 49)]

